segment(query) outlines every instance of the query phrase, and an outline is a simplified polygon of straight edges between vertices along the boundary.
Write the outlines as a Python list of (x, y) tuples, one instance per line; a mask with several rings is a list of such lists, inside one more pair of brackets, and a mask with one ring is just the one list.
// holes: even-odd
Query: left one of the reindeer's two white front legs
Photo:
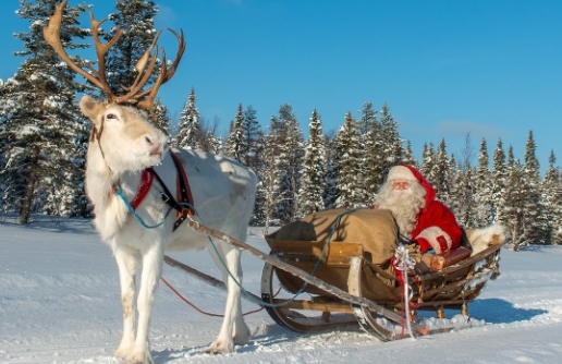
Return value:
[(140, 255), (138, 252), (126, 247), (118, 246), (113, 251), (119, 267), (119, 278), (121, 283), (121, 303), (123, 305), (123, 336), (121, 343), (114, 355), (125, 357), (133, 348), (135, 342), (135, 275), (140, 265)]

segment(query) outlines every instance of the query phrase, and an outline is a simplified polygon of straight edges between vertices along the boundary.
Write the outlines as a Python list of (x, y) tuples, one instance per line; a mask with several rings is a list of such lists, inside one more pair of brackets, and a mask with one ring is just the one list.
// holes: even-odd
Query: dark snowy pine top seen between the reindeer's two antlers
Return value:
[[(125, 94), (122, 86), (134, 83), (138, 75), (136, 62), (149, 49), (157, 35), (154, 19), (158, 7), (154, 1), (117, 0), (115, 9), (118, 12), (108, 16), (114, 26), (105, 34), (105, 40), (109, 41), (115, 35), (118, 26), (123, 29), (123, 34), (106, 57), (106, 73), (112, 92), (122, 95)], [(148, 84), (156, 77), (157, 74), (152, 74)]]

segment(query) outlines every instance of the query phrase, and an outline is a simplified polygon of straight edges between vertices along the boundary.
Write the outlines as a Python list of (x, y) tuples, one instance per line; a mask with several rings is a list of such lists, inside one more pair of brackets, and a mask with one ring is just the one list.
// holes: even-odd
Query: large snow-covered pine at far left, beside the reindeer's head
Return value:
[[(74, 81), (69, 68), (60, 66), (58, 54), (42, 37), (57, 2), (20, 2), (22, 9), (16, 13), (30, 26), (27, 33), (14, 35), (26, 48), (15, 54), (26, 59), (9, 80), (0, 102), (3, 208), (16, 210), (24, 225), (34, 211), (88, 214), (82, 186), (87, 126), (74, 105), (74, 95), (83, 92), (84, 85)], [(60, 37), (69, 49), (87, 47), (72, 41), (88, 34), (77, 26), (84, 10), (83, 5), (65, 8), (63, 13)]]

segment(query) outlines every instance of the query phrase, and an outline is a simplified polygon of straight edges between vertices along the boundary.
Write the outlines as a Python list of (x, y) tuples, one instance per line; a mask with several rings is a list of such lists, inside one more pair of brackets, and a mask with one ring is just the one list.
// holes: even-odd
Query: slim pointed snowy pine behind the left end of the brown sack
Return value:
[(325, 209), (326, 194), (326, 147), (322, 135), (322, 121), (314, 109), (309, 123), (309, 136), (306, 142), (303, 161), (302, 184), (298, 192), (300, 216)]

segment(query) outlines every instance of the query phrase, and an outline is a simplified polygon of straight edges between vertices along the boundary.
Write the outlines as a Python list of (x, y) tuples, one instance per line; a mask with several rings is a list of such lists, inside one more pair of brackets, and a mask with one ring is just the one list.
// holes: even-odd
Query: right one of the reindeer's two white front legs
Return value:
[(148, 328), (150, 324), (150, 311), (152, 308), (155, 291), (162, 270), (163, 252), (160, 244), (154, 244), (143, 253), (143, 272), (140, 289), (138, 291), (137, 311), (138, 325), (133, 350), (125, 357), (132, 363), (154, 364), (150, 355), (150, 342)]

